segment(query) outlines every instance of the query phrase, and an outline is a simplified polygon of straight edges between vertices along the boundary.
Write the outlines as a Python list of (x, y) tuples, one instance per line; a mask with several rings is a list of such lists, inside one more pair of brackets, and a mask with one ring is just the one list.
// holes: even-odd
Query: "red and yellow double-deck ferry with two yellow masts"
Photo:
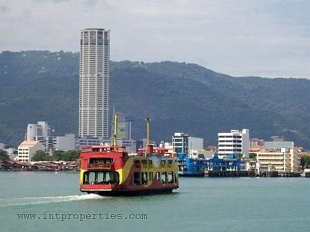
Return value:
[(81, 149), (80, 191), (101, 196), (135, 196), (171, 193), (178, 188), (176, 153), (149, 143), (136, 156), (116, 145), (117, 114), (114, 115), (114, 144)]

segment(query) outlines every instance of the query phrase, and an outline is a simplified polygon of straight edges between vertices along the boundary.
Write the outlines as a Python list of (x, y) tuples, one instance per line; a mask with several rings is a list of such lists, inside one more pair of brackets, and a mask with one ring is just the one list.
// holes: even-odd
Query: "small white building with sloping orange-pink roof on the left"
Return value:
[(18, 148), (17, 160), (30, 162), (36, 151), (43, 150), (45, 147), (39, 141), (23, 141)]

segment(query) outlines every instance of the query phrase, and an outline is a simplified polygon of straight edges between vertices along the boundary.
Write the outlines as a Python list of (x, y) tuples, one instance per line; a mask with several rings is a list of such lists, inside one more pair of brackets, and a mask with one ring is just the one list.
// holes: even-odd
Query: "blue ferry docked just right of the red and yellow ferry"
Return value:
[(207, 160), (188, 158), (186, 153), (178, 153), (178, 176), (205, 176)]

